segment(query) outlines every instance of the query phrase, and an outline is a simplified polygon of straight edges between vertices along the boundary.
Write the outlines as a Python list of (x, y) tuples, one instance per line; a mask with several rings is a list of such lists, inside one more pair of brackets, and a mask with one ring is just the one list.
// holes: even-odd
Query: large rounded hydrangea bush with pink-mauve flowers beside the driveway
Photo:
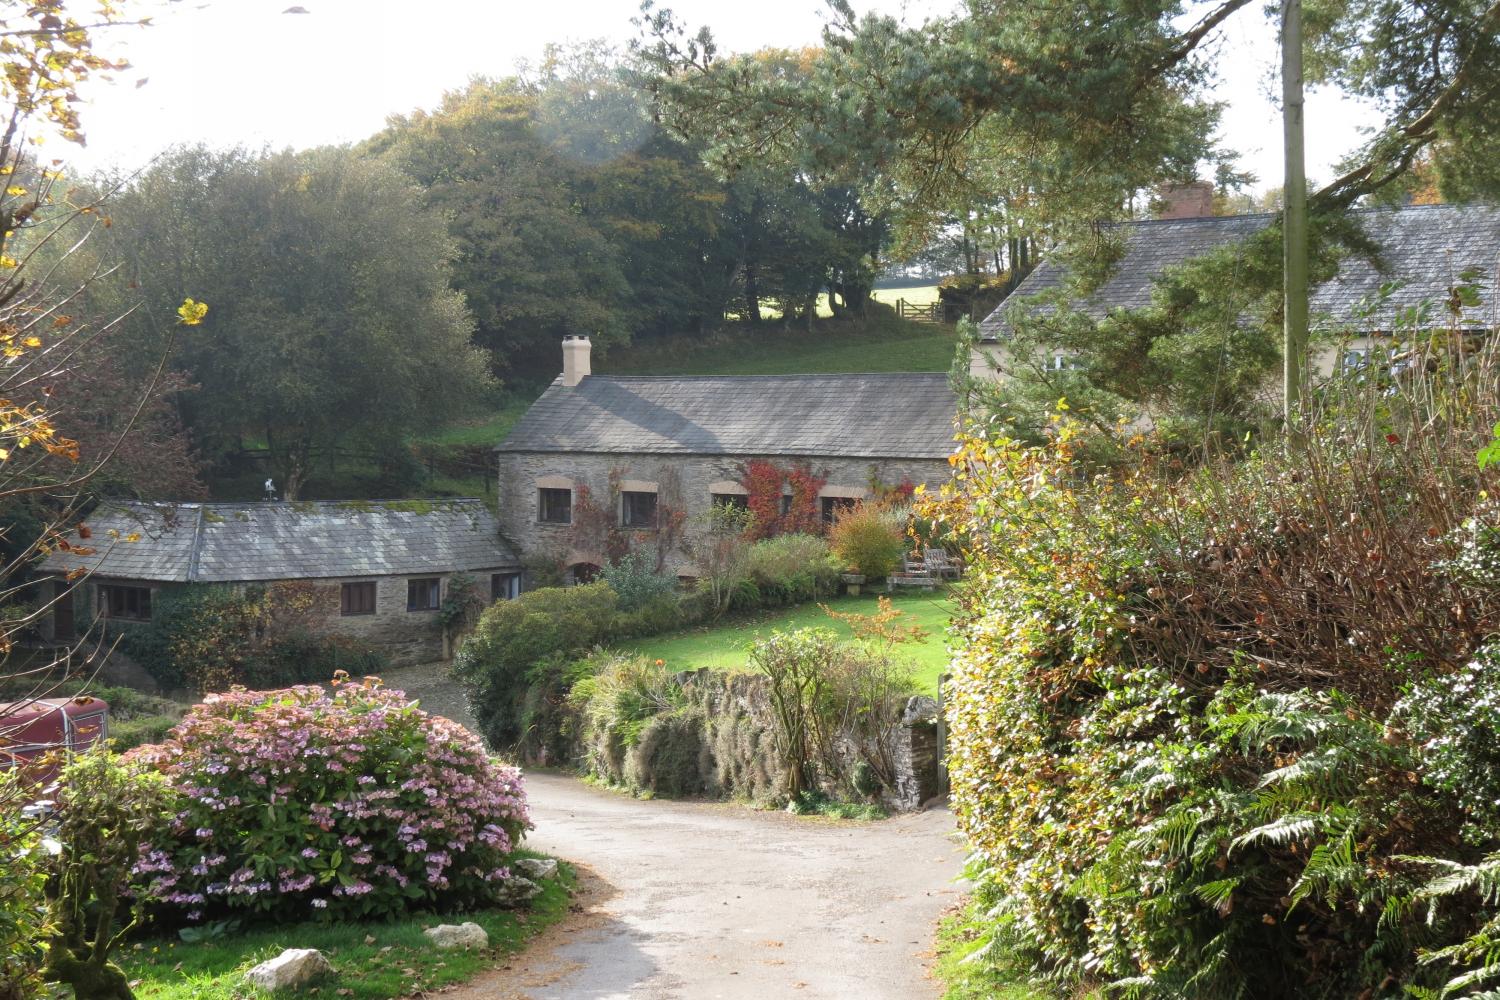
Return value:
[(478, 904), (530, 828), (519, 771), (378, 681), (210, 696), (135, 753), (178, 795), (136, 874), (190, 921)]

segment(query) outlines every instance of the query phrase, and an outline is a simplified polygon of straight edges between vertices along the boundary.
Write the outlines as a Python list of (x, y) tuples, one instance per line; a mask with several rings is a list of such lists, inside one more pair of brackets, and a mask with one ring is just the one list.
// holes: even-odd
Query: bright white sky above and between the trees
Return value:
[[(132, 69), (88, 91), (88, 147), (58, 150), (82, 168), (146, 163), (174, 142), (309, 147), (360, 139), (392, 112), (432, 106), (474, 75), (504, 75), (548, 42), (608, 39), (624, 45), (638, 0), (156, 0), (168, 3), (146, 30), (98, 42)], [(708, 24), (723, 49), (816, 43), (826, 19), (819, 0), (663, 0), (688, 24)], [(920, 24), (957, 0), (855, 0)], [(284, 13), (303, 7), (308, 13)], [(1281, 175), (1281, 129), (1270, 73), (1275, 28), (1257, 10), (1226, 28), (1228, 103), (1224, 135), (1258, 187)], [(136, 85), (142, 81), (141, 85)], [(1338, 94), (1308, 100), (1308, 174), (1359, 141), (1372, 115)]]

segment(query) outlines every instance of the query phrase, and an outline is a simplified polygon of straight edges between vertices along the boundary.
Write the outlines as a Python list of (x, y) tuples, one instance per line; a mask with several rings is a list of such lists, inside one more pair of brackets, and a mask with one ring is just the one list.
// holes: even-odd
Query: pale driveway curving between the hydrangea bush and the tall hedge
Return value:
[[(466, 721), (436, 673), (387, 682)], [(946, 810), (836, 822), (642, 802), (548, 772), (526, 774), (526, 792), (528, 846), (580, 867), (582, 913), (447, 1000), (939, 994), (933, 924), (963, 862)]]

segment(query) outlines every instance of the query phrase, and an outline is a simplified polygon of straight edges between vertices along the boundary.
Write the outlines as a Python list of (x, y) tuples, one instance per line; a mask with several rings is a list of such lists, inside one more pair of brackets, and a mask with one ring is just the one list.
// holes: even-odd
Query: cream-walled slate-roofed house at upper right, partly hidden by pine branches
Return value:
[[(1210, 201), (1176, 199), (1172, 205), (1173, 213), (1164, 219), (1107, 226), (1122, 240), (1124, 253), (1108, 280), (1088, 298), (1076, 301), (1076, 309), (1092, 319), (1104, 319), (1116, 309), (1149, 306), (1155, 280), (1168, 268), (1221, 246), (1248, 240), (1276, 217), (1194, 217), (1194, 211), (1208, 211)], [(1500, 261), (1500, 207), (1368, 208), (1356, 211), (1354, 219), (1380, 249), (1380, 267), (1362, 256), (1352, 256), (1332, 280), (1312, 288), (1310, 310), (1314, 330), (1346, 334), (1336, 343), (1324, 340), (1318, 345), (1314, 340), (1314, 373), (1328, 378), (1341, 367), (1388, 360), (1390, 349), (1396, 346), (1392, 340), (1396, 316), (1424, 301), (1432, 306), (1432, 321), (1443, 322), (1443, 303), (1449, 297), (1449, 288), (1470, 267), (1485, 276), (1485, 288), (1480, 289), (1480, 304), (1464, 310), (1461, 325), (1474, 331), (1491, 327), (1494, 271)], [(1066, 268), (1042, 261), (1016, 288), (1011, 298), (980, 324), (980, 343), (970, 355), (970, 373), (975, 378), (1010, 376), (1017, 363), (1006, 352), (1016, 312), (1035, 309), (1026, 301), (1029, 295), (1060, 288), (1066, 279)], [(1365, 303), (1374, 301), (1386, 282), (1395, 282), (1398, 288), (1378, 309), (1368, 312)], [(1038, 360), (1059, 369), (1071, 364), (1062, 352)]]

